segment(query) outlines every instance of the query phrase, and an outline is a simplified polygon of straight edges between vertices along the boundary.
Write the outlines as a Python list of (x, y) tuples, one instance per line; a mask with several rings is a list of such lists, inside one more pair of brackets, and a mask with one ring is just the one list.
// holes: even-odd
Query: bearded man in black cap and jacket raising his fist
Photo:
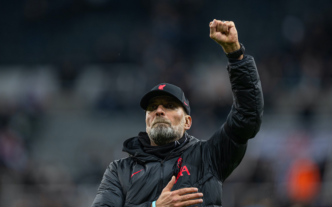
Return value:
[(188, 135), (188, 99), (175, 85), (157, 85), (140, 102), (146, 132), (124, 142), (130, 156), (107, 168), (92, 207), (221, 206), (222, 183), (259, 131), (264, 101), (254, 59), (243, 54), (234, 23), (213, 20), (210, 37), (229, 60), (234, 104), (227, 121), (208, 141)]

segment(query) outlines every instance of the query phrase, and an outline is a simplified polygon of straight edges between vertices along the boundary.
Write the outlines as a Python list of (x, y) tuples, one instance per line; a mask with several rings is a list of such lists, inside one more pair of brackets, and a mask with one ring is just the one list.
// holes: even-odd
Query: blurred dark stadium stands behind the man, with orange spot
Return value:
[(91, 206), (160, 82), (185, 91), (188, 132), (208, 139), (232, 104), (214, 18), (235, 22), (265, 99), (223, 206), (332, 206), (329, 0), (1, 1), (0, 206)]

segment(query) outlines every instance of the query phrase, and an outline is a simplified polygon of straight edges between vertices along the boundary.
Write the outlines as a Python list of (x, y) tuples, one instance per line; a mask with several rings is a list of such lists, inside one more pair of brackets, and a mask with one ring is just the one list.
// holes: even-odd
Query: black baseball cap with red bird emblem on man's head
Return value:
[(146, 110), (149, 101), (157, 96), (169, 96), (179, 101), (183, 108), (186, 110), (187, 114), (190, 115), (190, 107), (189, 101), (185, 97), (182, 89), (178, 86), (169, 84), (169, 83), (161, 83), (152, 88), (149, 92), (147, 92), (141, 99), (140, 105), (142, 109)]

